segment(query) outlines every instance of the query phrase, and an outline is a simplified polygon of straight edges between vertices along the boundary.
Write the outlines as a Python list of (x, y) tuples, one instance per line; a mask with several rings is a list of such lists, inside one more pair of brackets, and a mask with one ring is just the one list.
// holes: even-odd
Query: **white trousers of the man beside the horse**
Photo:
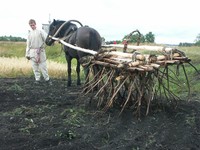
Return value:
[(49, 75), (46, 63), (45, 49), (30, 49), (30, 58), (35, 80), (39, 81), (41, 79), (42, 73), (44, 80), (48, 81)]

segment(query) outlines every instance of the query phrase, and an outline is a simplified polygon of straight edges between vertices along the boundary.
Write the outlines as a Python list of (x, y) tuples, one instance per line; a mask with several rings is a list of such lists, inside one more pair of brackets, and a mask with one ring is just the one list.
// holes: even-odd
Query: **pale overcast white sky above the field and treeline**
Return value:
[(50, 19), (75, 19), (95, 28), (106, 41), (138, 29), (156, 43), (194, 42), (200, 33), (199, 0), (2, 0), (0, 36), (27, 37), (28, 20), (37, 28)]

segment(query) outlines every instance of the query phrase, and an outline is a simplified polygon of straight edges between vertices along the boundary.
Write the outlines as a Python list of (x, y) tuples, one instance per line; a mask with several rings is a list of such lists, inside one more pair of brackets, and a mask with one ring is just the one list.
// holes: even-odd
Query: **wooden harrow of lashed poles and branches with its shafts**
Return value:
[[(56, 39), (56, 38), (54, 38)], [(59, 39), (56, 39), (59, 40)], [(184, 67), (190, 59), (184, 52), (176, 48), (162, 46), (131, 46), (132, 52), (116, 50), (124, 45), (105, 45), (100, 52), (70, 45), (62, 40), (62, 44), (89, 53), (81, 59), (83, 66), (89, 66), (92, 79), (85, 84), (83, 93), (92, 93), (97, 106), (104, 111), (113, 106), (120, 106), (121, 112), (127, 107), (140, 117), (141, 112), (147, 115), (153, 101), (167, 99), (176, 105), (180, 99), (173, 92), (173, 85), (179, 86), (178, 73), (183, 69), (188, 95), (190, 85)], [(127, 46), (127, 45), (126, 45)], [(147, 53), (147, 54), (145, 54)], [(171, 69), (172, 66), (174, 69)], [(97, 70), (98, 71), (94, 71)]]

